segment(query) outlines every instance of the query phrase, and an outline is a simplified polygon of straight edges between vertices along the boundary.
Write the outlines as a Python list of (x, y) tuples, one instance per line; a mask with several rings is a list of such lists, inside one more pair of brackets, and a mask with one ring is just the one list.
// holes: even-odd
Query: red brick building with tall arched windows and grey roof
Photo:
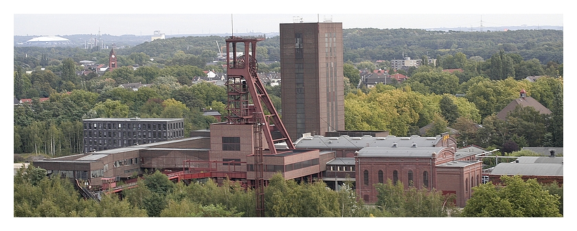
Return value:
[(357, 193), (365, 203), (377, 201), (374, 184), (402, 182), (456, 195), (457, 206), (465, 206), (471, 187), (481, 184), (482, 162), (455, 160), (451, 147), (365, 147), (355, 156)]

